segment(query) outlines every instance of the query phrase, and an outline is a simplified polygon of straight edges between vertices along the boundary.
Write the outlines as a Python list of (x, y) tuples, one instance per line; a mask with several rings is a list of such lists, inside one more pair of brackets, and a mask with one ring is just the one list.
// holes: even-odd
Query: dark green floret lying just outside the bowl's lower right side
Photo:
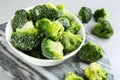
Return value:
[(78, 52), (78, 57), (84, 62), (95, 62), (103, 57), (102, 48), (93, 42), (87, 42)]

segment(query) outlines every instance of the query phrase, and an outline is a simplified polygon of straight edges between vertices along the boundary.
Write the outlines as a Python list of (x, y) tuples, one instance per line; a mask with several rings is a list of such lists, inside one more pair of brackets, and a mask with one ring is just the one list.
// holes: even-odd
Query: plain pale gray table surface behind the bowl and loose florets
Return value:
[[(65, 8), (77, 15), (80, 7), (87, 6), (94, 12), (97, 8), (105, 8), (109, 13), (108, 21), (114, 29), (114, 35), (110, 39), (101, 39), (91, 34), (91, 29), (94, 27), (94, 21), (91, 20), (88, 24), (84, 24), (86, 32), (91, 36), (91, 39), (96, 41), (108, 54), (108, 58), (112, 65), (112, 71), (115, 75), (115, 80), (120, 79), (120, 1), (119, 0), (0, 0), (0, 24), (5, 23), (14, 14), (17, 9), (34, 6), (37, 4), (51, 2), (53, 4), (62, 3)], [(94, 24), (93, 24), (94, 23)], [(6, 73), (8, 74), (8, 73)], [(3, 74), (0, 74), (3, 75)]]

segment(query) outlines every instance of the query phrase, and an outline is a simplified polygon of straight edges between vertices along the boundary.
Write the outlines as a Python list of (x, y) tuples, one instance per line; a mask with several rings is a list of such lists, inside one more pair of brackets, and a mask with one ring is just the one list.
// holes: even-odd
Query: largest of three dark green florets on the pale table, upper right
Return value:
[(110, 38), (113, 35), (111, 24), (104, 18), (99, 18), (93, 33), (101, 38)]

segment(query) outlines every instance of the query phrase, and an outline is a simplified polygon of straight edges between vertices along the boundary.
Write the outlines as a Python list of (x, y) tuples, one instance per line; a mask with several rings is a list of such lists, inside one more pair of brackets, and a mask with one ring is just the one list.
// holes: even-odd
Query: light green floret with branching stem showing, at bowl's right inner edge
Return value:
[(65, 53), (75, 50), (82, 42), (81, 35), (75, 35), (70, 31), (64, 32), (62, 37), (62, 44)]

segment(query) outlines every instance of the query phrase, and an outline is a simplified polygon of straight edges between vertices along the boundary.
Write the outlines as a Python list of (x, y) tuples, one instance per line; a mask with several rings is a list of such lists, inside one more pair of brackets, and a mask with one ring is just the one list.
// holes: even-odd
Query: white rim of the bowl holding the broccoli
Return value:
[[(40, 4), (40, 5), (41, 5), (41, 4)], [(31, 9), (31, 8), (33, 8), (33, 7), (35, 7), (35, 6), (27, 7), (27, 8), (23, 8), (23, 9), (25, 9), (26, 11), (28, 11), (29, 9)], [(70, 14), (72, 15), (73, 19), (74, 19), (75, 21), (77, 21), (77, 22), (82, 26), (81, 29), (80, 29), (80, 31), (82, 31), (83, 40), (82, 40), (82, 43), (79, 45), (79, 47), (78, 47), (77, 49), (75, 49), (74, 51), (70, 52), (70, 53), (67, 54), (67, 55), (64, 55), (62, 60), (52, 60), (52, 59), (39, 59), (39, 58), (35, 58), (35, 57), (32, 57), (32, 56), (30, 56), (30, 55), (25, 54), (24, 52), (20, 51), (20, 50), (17, 49), (17, 48), (15, 48), (15, 47), (11, 44), (11, 42), (10, 42), (10, 38), (9, 38), (9, 37), (10, 37), (11, 35), (8, 37), (8, 35), (9, 35), (9, 34), (8, 34), (8, 32), (9, 32), (8, 29), (9, 29), (9, 27), (12, 28), (11, 21), (12, 21), (12, 18), (13, 18), (14, 15), (9, 19), (9, 21), (8, 21), (8, 23), (7, 23), (7, 25), (6, 25), (6, 28), (5, 28), (5, 37), (6, 37), (7, 43), (9, 44), (9, 46), (10, 46), (20, 57), (23, 57), (23, 56), (21, 56), (21, 54), (22, 54), (22, 55), (25, 55), (25, 56), (27, 56), (27, 57), (29, 57), (29, 58), (31, 58), (31, 59), (34, 59), (35, 61), (57, 62), (57, 61), (63, 61), (63, 60), (66, 60), (66, 59), (72, 57), (73, 55), (75, 55), (75, 54), (80, 50), (80, 48), (83, 46), (83, 44), (84, 44), (84, 42), (85, 42), (85, 28), (84, 28), (82, 22), (81, 22), (72, 12), (70, 12), (70, 11), (68, 11), (68, 10), (65, 10), (65, 11), (67, 11), (68, 13), (70, 13)], [(13, 31), (12, 31), (12, 32), (13, 32)], [(12, 33), (11, 33), (11, 34), (12, 34)]]

